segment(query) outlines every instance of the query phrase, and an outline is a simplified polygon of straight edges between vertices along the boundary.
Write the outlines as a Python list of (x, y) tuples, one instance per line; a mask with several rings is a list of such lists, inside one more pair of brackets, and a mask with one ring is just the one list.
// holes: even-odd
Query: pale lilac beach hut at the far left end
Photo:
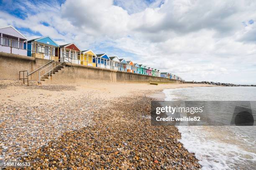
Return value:
[(13, 26), (0, 27), (0, 52), (11, 54), (27, 55), (27, 38)]

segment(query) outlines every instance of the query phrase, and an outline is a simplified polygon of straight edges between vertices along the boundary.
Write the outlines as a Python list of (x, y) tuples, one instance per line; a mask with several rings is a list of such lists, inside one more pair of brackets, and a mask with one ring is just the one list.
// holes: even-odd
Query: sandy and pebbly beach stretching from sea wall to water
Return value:
[(152, 127), (144, 117), (162, 90), (197, 86), (210, 85), (0, 80), (0, 161), (36, 169), (198, 169), (176, 127)]

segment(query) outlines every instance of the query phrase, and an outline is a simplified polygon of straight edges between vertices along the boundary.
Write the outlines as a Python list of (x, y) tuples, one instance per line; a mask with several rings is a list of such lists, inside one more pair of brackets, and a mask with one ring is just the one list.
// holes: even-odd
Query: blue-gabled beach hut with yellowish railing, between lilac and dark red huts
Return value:
[(59, 47), (59, 45), (49, 36), (29, 40), (27, 45), (28, 56), (59, 60), (59, 56), (55, 56), (55, 48)]

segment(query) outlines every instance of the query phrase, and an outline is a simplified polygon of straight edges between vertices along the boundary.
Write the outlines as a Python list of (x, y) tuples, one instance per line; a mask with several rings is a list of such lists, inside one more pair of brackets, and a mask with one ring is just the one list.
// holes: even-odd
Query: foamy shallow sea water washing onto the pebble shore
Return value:
[[(256, 101), (256, 87), (189, 87), (166, 89), (164, 93), (166, 101)], [(195, 153), (203, 170), (256, 169), (256, 126), (177, 128), (182, 134), (180, 142)]]

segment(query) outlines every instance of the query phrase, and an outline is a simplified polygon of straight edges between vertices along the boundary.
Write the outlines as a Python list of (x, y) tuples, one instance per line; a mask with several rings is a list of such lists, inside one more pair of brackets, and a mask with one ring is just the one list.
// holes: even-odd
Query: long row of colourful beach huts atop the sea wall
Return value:
[(0, 52), (182, 80), (181, 77), (169, 72), (160, 72), (156, 68), (127, 61), (118, 56), (110, 57), (107, 54), (95, 54), (92, 50), (80, 50), (74, 43), (58, 45), (49, 36), (27, 40), (11, 25), (1, 27), (0, 36)]

